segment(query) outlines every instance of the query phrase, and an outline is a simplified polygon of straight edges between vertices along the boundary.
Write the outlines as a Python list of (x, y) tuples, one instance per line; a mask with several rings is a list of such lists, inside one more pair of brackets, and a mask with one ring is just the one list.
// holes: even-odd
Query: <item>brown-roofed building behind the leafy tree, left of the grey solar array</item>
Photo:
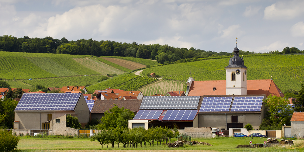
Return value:
[(132, 112), (136, 113), (141, 100), (96, 100), (94, 107), (91, 111), (92, 119), (101, 119), (104, 113), (113, 108), (114, 104), (119, 108), (124, 107), (125, 109), (130, 109)]

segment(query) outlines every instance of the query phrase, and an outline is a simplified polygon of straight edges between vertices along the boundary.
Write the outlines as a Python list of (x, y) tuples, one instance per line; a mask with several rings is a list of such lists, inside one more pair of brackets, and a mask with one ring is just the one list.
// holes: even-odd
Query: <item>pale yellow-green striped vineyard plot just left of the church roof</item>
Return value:
[(172, 80), (160, 80), (151, 85), (148, 85), (144, 88), (139, 89), (143, 95), (155, 95), (163, 94), (171, 91), (183, 91), (185, 82), (181, 81), (172, 81)]

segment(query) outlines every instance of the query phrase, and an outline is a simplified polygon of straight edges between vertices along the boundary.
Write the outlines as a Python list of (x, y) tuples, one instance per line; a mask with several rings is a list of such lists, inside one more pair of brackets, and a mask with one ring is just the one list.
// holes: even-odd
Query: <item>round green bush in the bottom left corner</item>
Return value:
[(0, 151), (11, 151), (17, 149), (19, 138), (12, 135), (12, 132), (0, 129)]

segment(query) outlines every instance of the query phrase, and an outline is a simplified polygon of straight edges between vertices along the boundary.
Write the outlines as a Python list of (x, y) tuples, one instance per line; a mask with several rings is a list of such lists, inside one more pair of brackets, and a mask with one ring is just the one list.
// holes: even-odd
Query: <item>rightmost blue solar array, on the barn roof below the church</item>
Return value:
[(253, 112), (261, 111), (264, 96), (259, 97), (234, 97), (231, 111)]

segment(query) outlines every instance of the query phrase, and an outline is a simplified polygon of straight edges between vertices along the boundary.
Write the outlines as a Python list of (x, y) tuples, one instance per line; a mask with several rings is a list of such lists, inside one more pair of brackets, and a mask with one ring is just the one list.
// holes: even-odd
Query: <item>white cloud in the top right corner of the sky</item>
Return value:
[(268, 19), (268, 20), (293, 19), (304, 13), (303, 8), (304, 8), (303, 0), (277, 2), (265, 8), (264, 19)]

